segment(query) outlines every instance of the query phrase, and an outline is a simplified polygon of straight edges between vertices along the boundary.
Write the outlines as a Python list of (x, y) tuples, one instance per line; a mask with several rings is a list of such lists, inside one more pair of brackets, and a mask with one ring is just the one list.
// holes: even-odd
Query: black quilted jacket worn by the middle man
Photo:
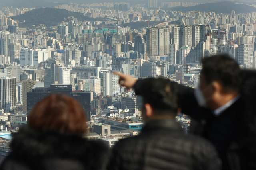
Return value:
[(136, 137), (112, 149), (108, 170), (219, 170), (221, 161), (204, 139), (185, 134), (179, 123), (147, 123)]

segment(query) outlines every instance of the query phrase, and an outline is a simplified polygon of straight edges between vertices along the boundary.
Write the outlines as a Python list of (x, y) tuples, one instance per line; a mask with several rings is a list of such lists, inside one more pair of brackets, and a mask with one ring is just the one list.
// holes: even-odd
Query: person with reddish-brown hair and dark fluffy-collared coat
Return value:
[(86, 130), (84, 111), (76, 100), (50, 95), (34, 107), (28, 127), (14, 134), (12, 153), (0, 169), (102, 170), (108, 147), (82, 138)]

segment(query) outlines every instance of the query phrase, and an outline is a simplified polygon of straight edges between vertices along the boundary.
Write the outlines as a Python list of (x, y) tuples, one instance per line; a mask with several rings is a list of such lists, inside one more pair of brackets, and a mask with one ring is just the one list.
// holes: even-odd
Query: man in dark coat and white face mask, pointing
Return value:
[[(179, 85), (179, 107), (192, 118), (190, 133), (216, 147), (223, 170), (255, 170), (256, 72), (240, 70), (227, 55), (204, 58), (202, 66), (195, 89)], [(147, 80), (118, 75), (136, 93), (148, 86)]]

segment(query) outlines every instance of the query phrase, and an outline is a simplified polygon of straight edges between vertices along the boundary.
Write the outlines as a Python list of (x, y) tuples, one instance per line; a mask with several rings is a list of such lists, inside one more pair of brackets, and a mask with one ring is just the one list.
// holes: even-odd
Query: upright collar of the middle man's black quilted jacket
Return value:
[(145, 126), (142, 128), (142, 133), (145, 131), (150, 131), (154, 129), (169, 129), (172, 131), (184, 133), (184, 130), (182, 129), (180, 123), (174, 120), (166, 120), (166, 119), (154, 120), (146, 123)]

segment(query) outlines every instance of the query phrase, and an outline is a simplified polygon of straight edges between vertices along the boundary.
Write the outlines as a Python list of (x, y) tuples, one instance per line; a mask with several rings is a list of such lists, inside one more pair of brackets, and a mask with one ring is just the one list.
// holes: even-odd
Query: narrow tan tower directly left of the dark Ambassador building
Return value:
[(22, 105), (22, 111), (24, 113), (27, 112), (27, 94), (28, 92), (32, 91), (32, 88), (36, 84), (36, 80), (22, 80), (22, 92), (23, 92), (23, 105)]

